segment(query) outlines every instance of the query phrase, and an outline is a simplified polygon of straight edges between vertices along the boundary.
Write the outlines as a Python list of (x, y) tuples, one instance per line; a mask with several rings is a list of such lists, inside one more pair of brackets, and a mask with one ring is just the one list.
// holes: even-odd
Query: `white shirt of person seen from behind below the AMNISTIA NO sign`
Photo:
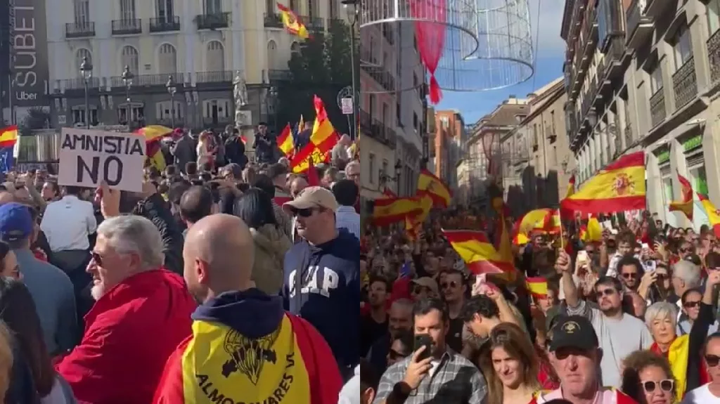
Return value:
[(40, 229), (48, 238), (53, 252), (89, 249), (88, 236), (97, 230), (92, 203), (81, 201), (76, 196), (64, 196), (45, 208)]

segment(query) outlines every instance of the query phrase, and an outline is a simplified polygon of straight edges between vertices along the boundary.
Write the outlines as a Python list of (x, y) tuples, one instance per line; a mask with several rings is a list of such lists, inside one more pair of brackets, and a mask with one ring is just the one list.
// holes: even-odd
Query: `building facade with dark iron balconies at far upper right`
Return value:
[[(580, 182), (646, 151), (649, 211), (675, 226), (676, 173), (720, 200), (720, 1), (568, 0), (562, 37), (570, 147)], [(707, 221), (696, 208), (694, 225)]]

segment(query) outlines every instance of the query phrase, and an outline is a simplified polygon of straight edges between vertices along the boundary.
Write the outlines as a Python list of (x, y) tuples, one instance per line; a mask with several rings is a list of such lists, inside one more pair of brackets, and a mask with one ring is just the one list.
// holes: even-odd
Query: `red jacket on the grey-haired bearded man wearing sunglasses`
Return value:
[(195, 306), (178, 275), (133, 275), (96, 301), (82, 341), (55, 369), (78, 403), (151, 403), (165, 362), (191, 332)]

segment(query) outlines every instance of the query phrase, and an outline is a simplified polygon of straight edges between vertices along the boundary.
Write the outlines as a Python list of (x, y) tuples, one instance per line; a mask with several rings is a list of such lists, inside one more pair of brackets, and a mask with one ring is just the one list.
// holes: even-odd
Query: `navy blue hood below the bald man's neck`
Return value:
[(243, 336), (256, 339), (275, 331), (285, 311), (280, 296), (259, 289), (225, 292), (197, 306), (193, 320), (215, 321), (232, 327)]

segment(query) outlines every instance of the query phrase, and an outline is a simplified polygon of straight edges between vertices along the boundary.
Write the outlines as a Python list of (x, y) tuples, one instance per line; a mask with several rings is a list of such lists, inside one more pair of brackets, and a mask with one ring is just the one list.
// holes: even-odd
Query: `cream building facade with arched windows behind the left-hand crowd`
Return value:
[[(341, 18), (340, 0), (281, 0), (312, 32)], [(233, 79), (244, 78), (243, 121), (269, 121), (274, 75), (287, 70), (298, 38), (274, 1), (89, 0), (45, 2), (49, 90), (58, 126), (174, 124), (222, 128), (235, 121)], [(89, 116), (82, 60), (92, 65)], [(127, 88), (122, 72), (134, 75)], [(172, 77), (176, 93), (166, 83)]]

